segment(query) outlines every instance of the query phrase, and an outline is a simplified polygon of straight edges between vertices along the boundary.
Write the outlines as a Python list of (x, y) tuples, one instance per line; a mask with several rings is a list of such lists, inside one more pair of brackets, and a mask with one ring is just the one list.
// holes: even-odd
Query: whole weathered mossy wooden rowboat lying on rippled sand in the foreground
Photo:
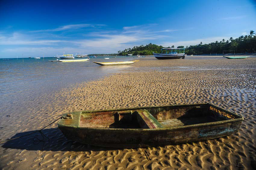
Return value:
[(206, 141), (239, 131), (243, 117), (213, 104), (134, 107), (65, 113), (58, 128), (70, 140), (116, 148)]

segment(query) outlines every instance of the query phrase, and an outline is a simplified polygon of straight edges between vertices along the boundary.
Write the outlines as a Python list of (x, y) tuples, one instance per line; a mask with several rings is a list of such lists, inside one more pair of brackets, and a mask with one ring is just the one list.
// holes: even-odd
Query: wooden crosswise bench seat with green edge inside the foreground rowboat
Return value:
[(143, 129), (163, 128), (157, 119), (155, 119), (147, 110), (136, 110), (133, 112), (133, 115), (134, 114), (136, 114), (138, 123)]

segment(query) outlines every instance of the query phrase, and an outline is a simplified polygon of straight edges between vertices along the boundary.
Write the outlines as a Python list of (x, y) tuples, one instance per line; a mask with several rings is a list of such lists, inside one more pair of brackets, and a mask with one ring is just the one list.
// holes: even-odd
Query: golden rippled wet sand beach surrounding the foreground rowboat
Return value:
[[(20, 101), (1, 115), (0, 139), (41, 129), (63, 113), (209, 102), (244, 117), (238, 133), (191, 144), (113, 149), (67, 140), (57, 123), (0, 146), (0, 169), (253, 169), (256, 57), (141, 58), (118, 73)], [(29, 101), (29, 102), (28, 102)], [(36, 137), (36, 138), (35, 138)]]

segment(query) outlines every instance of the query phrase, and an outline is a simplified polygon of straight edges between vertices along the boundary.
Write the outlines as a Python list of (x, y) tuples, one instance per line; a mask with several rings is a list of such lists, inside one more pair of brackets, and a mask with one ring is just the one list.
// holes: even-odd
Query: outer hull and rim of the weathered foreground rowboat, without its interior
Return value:
[[(188, 109), (195, 107), (212, 107), (212, 112), (220, 111), (220, 113), (230, 113), (212, 104), (193, 104), (186, 105)], [(185, 105), (164, 106), (168, 110), (180, 111), (180, 107)], [(101, 110), (101, 112), (147, 109), (153, 112), (161, 107), (142, 107), (115, 110)], [(173, 108), (172, 108), (173, 107)], [(215, 110), (216, 109), (216, 110)], [(166, 109), (167, 110), (167, 109)], [(70, 140), (78, 141), (84, 144), (91, 144), (103, 147), (114, 148), (145, 148), (158, 147), (166, 145), (186, 144), (191, 142), (206, 141), (215, 138), (227, 136), (239, 131), (242, 123), (242, 116), (232, 113), (236, 119), (224, 120), (218, 122), (208, 122), (193, 125), (175, 126), (170, 128), (155, 129), (117, 129), (117, 128), (88, 128), (80, 127), (80, 117), (82, 113), (92, 113), (94, 111), (82, 111), (72, 113), (73, 119), (61, 119), (58, 122), (58, 128)], [(169, 111), (170, 112), (170, 111)], [(63, 116), (66, 116), (64, 114)], [(77, 119), (79, 119), (77, 121)]]

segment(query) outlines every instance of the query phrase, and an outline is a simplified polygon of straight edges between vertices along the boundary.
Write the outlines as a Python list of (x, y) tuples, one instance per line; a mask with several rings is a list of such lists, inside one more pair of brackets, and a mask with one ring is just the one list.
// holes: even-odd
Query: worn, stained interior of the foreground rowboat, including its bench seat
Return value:
[(82, 112), (80, 127), (155, 129), (235, 119), (237, 115), (210, 105), (150, 107), (142, 109)]

